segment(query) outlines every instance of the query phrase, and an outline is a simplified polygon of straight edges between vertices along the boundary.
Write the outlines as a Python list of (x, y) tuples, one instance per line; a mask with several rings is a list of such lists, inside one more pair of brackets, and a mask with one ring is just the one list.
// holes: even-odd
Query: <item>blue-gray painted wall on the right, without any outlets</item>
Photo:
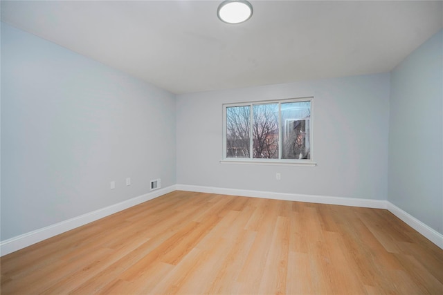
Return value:
[(443, 234), (443, 30), (392, 70), (388, 200)]

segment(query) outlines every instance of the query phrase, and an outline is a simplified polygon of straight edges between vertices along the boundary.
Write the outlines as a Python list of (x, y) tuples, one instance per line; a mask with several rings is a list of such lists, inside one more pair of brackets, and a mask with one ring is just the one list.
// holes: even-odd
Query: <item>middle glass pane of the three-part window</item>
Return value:
[(278, 159), (278, 104), (254, 104), (253, 114), (253, 158)]

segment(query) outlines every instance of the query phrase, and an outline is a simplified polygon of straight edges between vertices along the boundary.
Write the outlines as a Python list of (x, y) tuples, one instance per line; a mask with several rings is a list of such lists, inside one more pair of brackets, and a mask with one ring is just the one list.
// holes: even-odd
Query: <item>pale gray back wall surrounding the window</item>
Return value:
[[(389, 85), (385, 73), (177, 95), (177, 183), (386, 200)], [(317, 166), (220, 163), (222, 104), (311, 96)]]

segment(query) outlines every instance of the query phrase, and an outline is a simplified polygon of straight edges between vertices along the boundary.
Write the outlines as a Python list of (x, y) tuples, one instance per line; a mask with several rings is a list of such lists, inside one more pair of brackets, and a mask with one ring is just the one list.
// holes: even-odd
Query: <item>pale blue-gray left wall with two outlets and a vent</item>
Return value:
[(1, 240), (176, 183), (174, 94), (6, 23), (1, 61)]

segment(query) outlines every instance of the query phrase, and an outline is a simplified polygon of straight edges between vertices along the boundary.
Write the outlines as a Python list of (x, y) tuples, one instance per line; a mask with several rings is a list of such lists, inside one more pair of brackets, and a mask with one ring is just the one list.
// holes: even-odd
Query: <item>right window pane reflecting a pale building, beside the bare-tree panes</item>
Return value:
[(281, 104), (282, 159), (311, 159), (311, 102)]

